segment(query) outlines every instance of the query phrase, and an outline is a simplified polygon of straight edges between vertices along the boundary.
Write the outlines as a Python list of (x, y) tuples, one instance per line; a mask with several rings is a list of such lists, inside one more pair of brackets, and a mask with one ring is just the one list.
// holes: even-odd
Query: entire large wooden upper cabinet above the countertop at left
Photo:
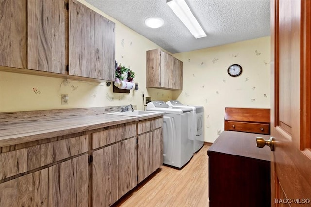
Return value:
[(114, 81), (115, 24), (77, 1), (64, 2), (2, 0), (0, 66)]

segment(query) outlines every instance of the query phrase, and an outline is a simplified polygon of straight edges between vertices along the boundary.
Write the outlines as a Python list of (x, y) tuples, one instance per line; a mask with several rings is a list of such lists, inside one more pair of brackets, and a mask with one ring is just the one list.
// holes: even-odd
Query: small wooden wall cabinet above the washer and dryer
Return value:
[(183, 62), (161, 49), (147, 51), (146, 86), (182, 90)]

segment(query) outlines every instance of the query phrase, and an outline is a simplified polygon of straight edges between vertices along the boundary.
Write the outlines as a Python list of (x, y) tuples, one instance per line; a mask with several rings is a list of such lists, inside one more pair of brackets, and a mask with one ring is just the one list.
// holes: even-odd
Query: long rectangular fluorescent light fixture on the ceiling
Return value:
[(167, 0), (166, 3), (196, 39), (206, 36), (185, 0)]

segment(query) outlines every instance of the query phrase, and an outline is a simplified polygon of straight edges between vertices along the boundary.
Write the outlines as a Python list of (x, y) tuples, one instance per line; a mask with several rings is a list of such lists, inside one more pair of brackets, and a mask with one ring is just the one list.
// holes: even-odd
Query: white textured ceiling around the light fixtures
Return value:
[[(207, 36), (195, 39), (166, 0), (86, 0), (171, 53), (187, 52), (270, 35), (270, 0), (186, 0)], [(161, 17), (161, 28), (148, 28)]]

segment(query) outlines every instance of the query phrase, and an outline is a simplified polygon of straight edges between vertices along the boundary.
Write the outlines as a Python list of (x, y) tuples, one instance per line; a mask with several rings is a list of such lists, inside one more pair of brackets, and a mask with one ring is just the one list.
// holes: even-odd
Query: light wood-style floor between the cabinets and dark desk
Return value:
[(208, 156), (204, 145), (182, 169), (162, 166), (115, 207), (208, 207)]

